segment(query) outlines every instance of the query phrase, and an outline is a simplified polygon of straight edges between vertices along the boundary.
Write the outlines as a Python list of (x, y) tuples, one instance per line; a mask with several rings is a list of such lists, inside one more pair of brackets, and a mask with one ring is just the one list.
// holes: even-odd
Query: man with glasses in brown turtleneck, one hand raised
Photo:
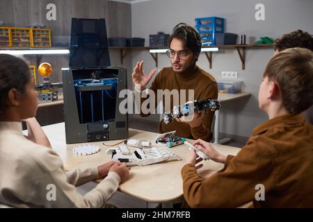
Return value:
[[(167, 55), (170, 58), (172, 67), (163, 68), (154, 79), (150, 91), (154, 93), (157, 98), (158, 90), (168, 89), (168, 92), (177, 92), (179, 98), (168, 100), (163, 99), (163, 108), (165, 112), (172, 112), (174, 105), (183, 105), (188, 101), (188, 90), (192, 90), (194, 100), (217, 99), (218, 87), (216, 80), (211, 74), (203, 69), (200, 69), (195, 62), (197, 62), (201, 52), (200, 34), (195, 31), (195, 28), (186, 24), (178, 24), (173, 29), (168, 43)], [(147, 84), (150, 82), (156, 69), (152, 69), (150, 74), (145, 76), (143, 72), (143, 61), (137, 62), (134, 72), (131, 75), (135, 89), (137, 92), (143, 92)], [(186, 94), (182, 95), (182, 89), (186, 89)], [(166, 93), (166, 92), (164, 92)], [(185, 96), (185, 97), (184, 97)], [(166, 97), (163, 95), (159, 97)], [(155, 100), (154, 107), (157, 108), (158, 101)], [(183, 99), (185, 98), (185, 99)], [(144, 99), (141, 100), (143, 104)], [(151, 101), (153, 103), (153, 101)], [(166, 103), (169, 102), (169, 109), (166, 109)], [(142, 114), (147, 116), (148, 114)], [(207, 142), (211, 141), (211, 124), (214, 119), (214, 112), (198, 112), (193, 115), (191, 119), (175, 119), (172, 123), (166, 124), (163, 121), (159, 123), (159, 132), (167, 133), (176, 130), (177, 135), (191, 139), (203, 139)]]

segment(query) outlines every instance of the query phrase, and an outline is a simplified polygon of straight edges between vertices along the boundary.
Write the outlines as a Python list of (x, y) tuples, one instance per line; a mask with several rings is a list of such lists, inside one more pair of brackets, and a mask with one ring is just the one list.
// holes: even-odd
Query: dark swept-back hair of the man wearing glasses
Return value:
[(195, 55), (201, 53), (202, 43), (200, 34), (192, 26), (188, 26), (186, 23), (177, 24), (172, 30), (172, 35), (170, 35), (170, 39), (168, 40), (168, 48), (170, 48), (170, 43), (173, 38), (181, 40), (184, 43), (184, 46)]

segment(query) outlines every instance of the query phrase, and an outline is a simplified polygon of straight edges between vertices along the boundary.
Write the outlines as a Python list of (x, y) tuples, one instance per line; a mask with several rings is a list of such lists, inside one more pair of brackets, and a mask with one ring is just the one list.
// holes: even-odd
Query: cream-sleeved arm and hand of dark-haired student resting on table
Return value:
[(27, 173), (29, 177), (24, 178), (28, 182), (23, 182), (23, 186), (31, 190), (29, 194), (24, 194), (28, 203), (43, 207), (103, 207), (120, 182), (129, 178), (126, 165), (115, 163), (106, 178), (82, 196), (76, 187), (67, 182), (61, 158), (52, 149), (42, 149), (40, 152), (34, 156), (36, 167)]

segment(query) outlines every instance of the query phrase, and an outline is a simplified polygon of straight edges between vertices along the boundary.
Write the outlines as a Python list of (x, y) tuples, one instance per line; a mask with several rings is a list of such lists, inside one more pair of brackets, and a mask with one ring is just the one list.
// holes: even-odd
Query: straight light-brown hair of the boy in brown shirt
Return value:
[(271, 58), (264, 77), (278, 83), (284, 108), (299, 114), (313, 104), (313, 53), (308, 49), (286, 49)]

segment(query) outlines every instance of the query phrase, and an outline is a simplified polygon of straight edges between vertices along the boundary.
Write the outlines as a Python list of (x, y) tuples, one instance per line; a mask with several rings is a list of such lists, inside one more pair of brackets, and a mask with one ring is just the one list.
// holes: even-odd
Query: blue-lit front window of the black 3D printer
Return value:
[[(115, 121), (118, 76), (105, 71), (97, 71), (96, 76), (93, 76), (95, 71), (90, 69), (77, 71), (79, 75), (74, 75), (77, 78), (74, 80), (74, 89), (79, 122)], [(86, 74), (93, 78), (86, 78)]]

